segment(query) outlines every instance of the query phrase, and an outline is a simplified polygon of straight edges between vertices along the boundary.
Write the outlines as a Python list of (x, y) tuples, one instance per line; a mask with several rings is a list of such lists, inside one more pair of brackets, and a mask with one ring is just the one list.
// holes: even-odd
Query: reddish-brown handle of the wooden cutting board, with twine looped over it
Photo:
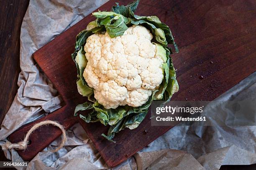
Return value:
[[(59, 122), (67, 130), (72, 125), (78, 122), (78, 118), (73, 115), (74, 108), (65, 105), (60, 109), (51, 112), (49, 115), (42, 117), (35, 122), (23, 125), (18, 130), (13, 132), (8, 139), (11, 143), (18, 143), (24, 140), (24, 136), (31, 129), (33, 125), (44, 120), (53, 120)], [(40, 151), (44, 150), (48, 145), (50, 145), (56, 138), (61, 135), (61, 130), (56, 126), (42, 126), (36, 129), (29, 136), (29, 144), (26, 150), (17, 150), (21, 158), (24, 161), (32, 160)]]

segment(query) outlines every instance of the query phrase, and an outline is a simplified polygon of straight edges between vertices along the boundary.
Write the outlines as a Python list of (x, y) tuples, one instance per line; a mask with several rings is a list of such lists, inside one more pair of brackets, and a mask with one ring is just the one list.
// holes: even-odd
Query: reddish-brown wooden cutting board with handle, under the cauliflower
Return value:
[[(110, 10), (116, 1), (110, 0), (99, 9)], [(122, 0), (120, 4), (128, 2), (131, 0)], [(172, 100), (213, 100), (256, 71), (255, 9), (256, 1), (141, 0), (136, 14), (157, 15), (169, 25), (179, 46), (180, 53), (172, 58), (180, 90)], [(92, 20), (92, 16), (87, 16), (33, 54), (66, 105), (24, 125), (11, 134), (9, 140), (12, 143), (23, 140), (31, 126), (43, 120), (59, 121), (66, 128), (79, 121), (102, 158), (113, 167), (172, 127), (151, 126), (148, 114), (138, 128), (123, 130), (114, 138), (117, 143), (111, 143), (101, 136), (107, 133), (108, 127), (85, 123), (73, 116), (75, 106), (85, 98), (77, 92), (77, 70), (71, 54), (75, 36)], [(26, 150), (17, 151), (24, 160), (31, 160), (59, 135), (58, 128), (42, 127), (31, 135), (31, 144)]]

